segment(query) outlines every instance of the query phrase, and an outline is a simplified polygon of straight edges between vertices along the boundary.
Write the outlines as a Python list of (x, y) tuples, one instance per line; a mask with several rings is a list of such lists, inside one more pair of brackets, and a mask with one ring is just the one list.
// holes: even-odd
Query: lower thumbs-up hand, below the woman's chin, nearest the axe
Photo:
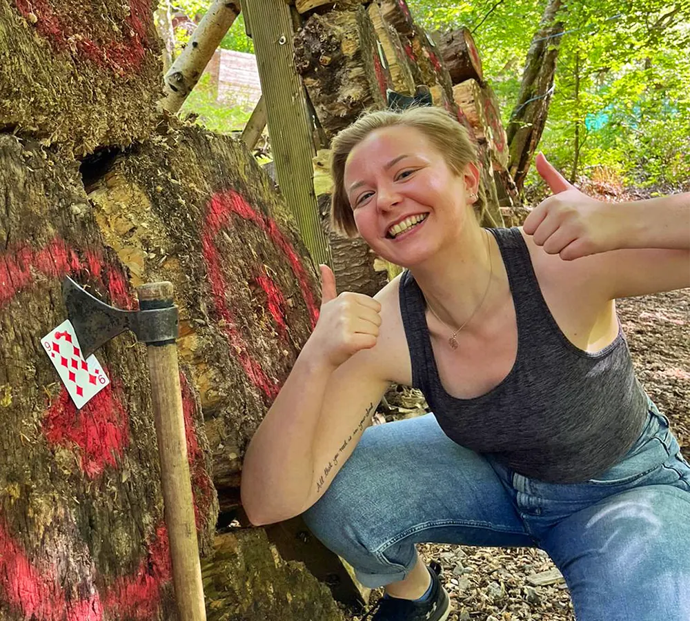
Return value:
[(335, 275), (327, 265), (321, 270), (319, 321), (305, 346), (325, 364), (339, 367), (352, 355), (376, 344), (381, 325), (381, 304), (363, 293), (335, 289)]

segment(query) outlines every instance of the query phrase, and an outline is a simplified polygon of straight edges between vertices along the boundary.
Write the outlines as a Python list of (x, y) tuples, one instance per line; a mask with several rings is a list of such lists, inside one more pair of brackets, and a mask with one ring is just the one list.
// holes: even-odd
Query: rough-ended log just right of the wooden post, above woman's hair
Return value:
[(331, 139), (369, 108), (386, 107), (392, 85), (364, 7), (312, 15), (295, 35), (295, 65)]

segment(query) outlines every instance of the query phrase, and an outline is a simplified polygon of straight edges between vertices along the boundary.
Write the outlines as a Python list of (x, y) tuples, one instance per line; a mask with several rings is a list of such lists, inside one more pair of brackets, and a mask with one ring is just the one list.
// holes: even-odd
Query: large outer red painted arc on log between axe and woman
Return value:
[(310, 314), (312, 327), (316, 324), (318, 311), (306, 270), (299, 260), (299, 255), (297, 255), (297, 252), (282, 231), (279, 230), (275, 221), (255, 210), (244, 197), (234, 190), (226, 190), (213, 196), (206, 211), (206, 226), (204, 227), (204, 235), (201, 237), (201, 247), (206, 261), (206, 269), (210, 279), (216, 311), (224, 322), (222, 329), (228, 338), (230, 347), (237, 354), (237, 359), (242, 364), (245, 373), (266, 397), (273, 400), (277, 396), (279, 386), (275, 380), (266, 375), (261, 366), (251, 357), (250, 346), (237, 327), (237, 320), (234, 313), (230, 310), (226, 297), (228, 285), (224, 277), (220, 255), (214, 238), (221, 229), (230, 226), (233, 214), (253, 222), (253, 224), (266, 233), (273, 244), (279, 250), (282, 250), (282, 253), (287, 257), (290, 267), (299, 282), (304, 303)]

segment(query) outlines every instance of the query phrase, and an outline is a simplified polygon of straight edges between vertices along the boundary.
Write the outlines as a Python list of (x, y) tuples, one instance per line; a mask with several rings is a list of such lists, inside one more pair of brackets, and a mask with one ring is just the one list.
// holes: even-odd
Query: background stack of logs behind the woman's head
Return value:
[[(442, 50), (415, 23), (405, 0), (365, 1), (364, 6), (338, 2), (330, 11), (324, 11), (323, 2), (315, 1), (318, 9), (314, 1), (295, 0), (305, 19), (295, 34), (295, 65), (327, 139), (351, 125), (362, 112), (385, 108), (388, 89), (411, 97), (417, 86), (424, 85), (434, 105), (449, 110), (476, 141), (469, 119), (453, 98)], [(481, 183), (489, 201), (482, 224), (500, 226), (490, 168), (482, 174)], [(329, 201), (330, 193), (320, 195), (326, 229)], [(331, 230), (326, 234), (338, 287), (376, 293), (391, 266), (382, 263), (362, 240), (341, 239)]]

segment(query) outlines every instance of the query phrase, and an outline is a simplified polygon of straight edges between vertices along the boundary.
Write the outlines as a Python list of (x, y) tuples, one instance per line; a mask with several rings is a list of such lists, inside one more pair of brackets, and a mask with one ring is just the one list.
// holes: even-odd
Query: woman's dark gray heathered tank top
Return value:
[(517, 358), (491, 391), (456, 399), (444, 390), (429, 338), (422, 291), (406, 270), (400, 312), (420, 388), (451, 440), (526, 477), (582, 482), (615, 464), (642, 431), (649, 407), (625, 337), (588, 353), (560, 331), (518, 228), (489, 229), (501, 250), (517, 316)]

